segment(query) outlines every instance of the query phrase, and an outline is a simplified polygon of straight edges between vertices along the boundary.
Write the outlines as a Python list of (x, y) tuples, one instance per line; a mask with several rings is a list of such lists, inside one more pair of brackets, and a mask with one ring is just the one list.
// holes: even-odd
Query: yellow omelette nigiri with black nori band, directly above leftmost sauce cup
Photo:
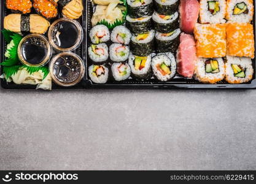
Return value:
[(44, 34), (49, 26), (49, 21), (36, 14), (10, 14), (4, 17), (4, 29), (9, 29), (15, 33)]

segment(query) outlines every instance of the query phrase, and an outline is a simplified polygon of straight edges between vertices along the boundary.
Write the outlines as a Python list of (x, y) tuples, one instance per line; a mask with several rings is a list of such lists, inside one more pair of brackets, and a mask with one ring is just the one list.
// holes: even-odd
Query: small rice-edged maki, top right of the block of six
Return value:
[(125, 26), (116, 26), (111, 33), (111, 41), (118, 44), (129, 45), (131, 33)]

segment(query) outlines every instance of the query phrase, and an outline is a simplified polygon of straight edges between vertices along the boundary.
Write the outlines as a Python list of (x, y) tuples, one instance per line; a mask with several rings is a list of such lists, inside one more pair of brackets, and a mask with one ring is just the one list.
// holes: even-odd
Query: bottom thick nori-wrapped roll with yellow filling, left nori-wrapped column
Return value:
[(131, 75), (137, 79), (147, 79), (151, 76), (151, 55), (141, 57), (130, 53), (129, 61)]

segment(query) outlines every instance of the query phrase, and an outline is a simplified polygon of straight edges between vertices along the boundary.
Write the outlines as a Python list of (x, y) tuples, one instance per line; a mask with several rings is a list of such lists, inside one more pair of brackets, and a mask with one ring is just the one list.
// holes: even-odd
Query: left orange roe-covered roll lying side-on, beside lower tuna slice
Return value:
[(226, 56), (226, 25), (196, 24), (196, 55), (200, 58), (222, 58)]

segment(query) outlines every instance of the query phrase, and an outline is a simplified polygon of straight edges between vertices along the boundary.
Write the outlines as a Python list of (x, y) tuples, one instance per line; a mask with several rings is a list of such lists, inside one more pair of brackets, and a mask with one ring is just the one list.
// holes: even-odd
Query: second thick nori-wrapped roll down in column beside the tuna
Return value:
[(173, 15), (160, 15), (157, 12), (153, 13), (153, 21), (155, 31), (160, 33), (170, 33), (179, 28), (179, 13), (175, 12)]

